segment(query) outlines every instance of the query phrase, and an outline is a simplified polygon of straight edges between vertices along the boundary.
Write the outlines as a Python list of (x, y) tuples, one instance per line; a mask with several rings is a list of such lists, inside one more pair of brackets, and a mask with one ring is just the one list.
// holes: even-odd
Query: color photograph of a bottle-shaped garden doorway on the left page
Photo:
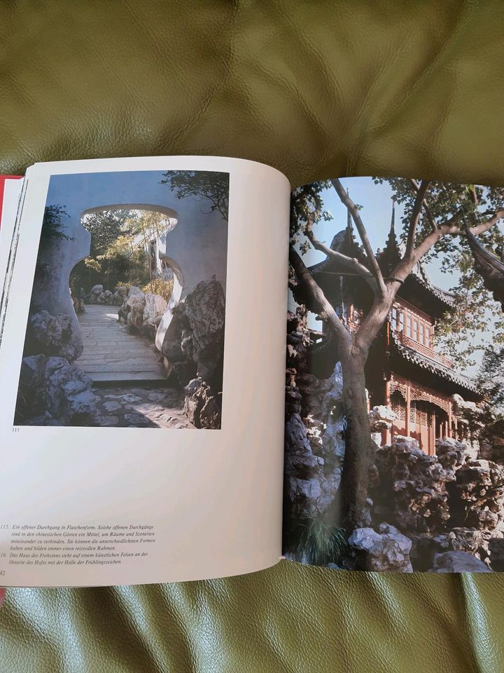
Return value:
[(15, 426), (221, 428), (229, 174), (53, 175)]

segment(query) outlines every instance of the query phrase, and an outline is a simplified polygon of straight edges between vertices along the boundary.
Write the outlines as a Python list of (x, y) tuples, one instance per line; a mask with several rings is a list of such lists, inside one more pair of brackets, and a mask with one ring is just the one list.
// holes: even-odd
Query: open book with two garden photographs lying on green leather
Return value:
[(502, 189), (178, 156), (2, 192), (0, 585), (504, 568)]

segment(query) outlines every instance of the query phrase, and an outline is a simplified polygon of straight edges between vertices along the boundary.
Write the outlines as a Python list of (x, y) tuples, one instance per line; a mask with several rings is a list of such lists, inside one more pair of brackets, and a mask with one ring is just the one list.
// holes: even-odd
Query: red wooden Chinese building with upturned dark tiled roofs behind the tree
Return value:
[[(367, 264), (350, 218), (330, 247)], [(392, 211), (386, 245), (377, 252), (384, 278), (391, 275), (400, 258)], [(311, 266), (310, 271), (339, 317), (351, 331), (356, 331), (373, 299), (366, 280), (344, 271), (332, 257)], [(437, 437), (467, 436), (465, 421), (454, 414), (451, 398), (461, 395), (464, 400), (479, 402), (481, 395), (475, 383), (435, 350), (437, 321), (452, 306), (453, 296), (430, 283), (421, 264), (398, 290), (388, 320), (372, 344), (365, 372), (370, 407), (386, 405), (397, 416), (382, 437), (384, 443), (389, 443), (392, 435), (406, 435), (419, 440), (423, 451), (434, 454)], [(337, 361), (335, 339), (325, 330), (312, 330), (312, 339), (311, 371), (316, 376), (330, 376)]]

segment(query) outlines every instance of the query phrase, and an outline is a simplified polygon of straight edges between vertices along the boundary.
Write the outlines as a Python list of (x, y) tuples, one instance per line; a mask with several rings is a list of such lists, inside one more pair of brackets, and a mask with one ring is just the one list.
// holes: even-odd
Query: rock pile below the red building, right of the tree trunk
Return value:
[[(472, 458), (473, 451), (446, 437), (436, 441), (436, 456), (409, 437), (395, 437), (377, 451), (374, 527), (392, 522), (412, 541), (415, 571), (504, 567), (504, 468)], [(362, 562), (363, 551), (354, 552)]]

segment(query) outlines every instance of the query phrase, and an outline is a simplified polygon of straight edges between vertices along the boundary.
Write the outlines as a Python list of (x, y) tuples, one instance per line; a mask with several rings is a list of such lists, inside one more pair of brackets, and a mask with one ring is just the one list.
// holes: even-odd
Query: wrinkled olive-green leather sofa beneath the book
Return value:
[[(503, 29), (500, 0), (6, 0), (0, 172), (221, 154), (293, 184), (504, 184)], [(0, 670), (498, 673), (503, 632), (498, 574), (281, 562), (209, 582), (9, 590)]]

